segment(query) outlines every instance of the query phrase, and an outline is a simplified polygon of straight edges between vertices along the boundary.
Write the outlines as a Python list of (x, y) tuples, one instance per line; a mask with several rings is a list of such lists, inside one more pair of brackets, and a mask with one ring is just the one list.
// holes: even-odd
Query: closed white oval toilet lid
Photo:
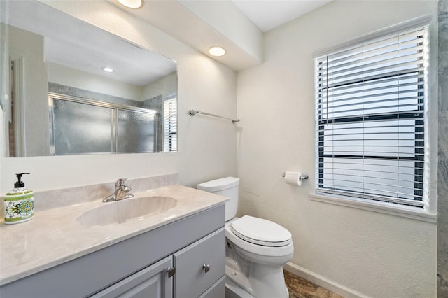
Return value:
[(239, 238), (261, 246), (286, 246), (291, 243), (291, 233), (281, 225), (244, 215), (232, 222), (232, 232)]

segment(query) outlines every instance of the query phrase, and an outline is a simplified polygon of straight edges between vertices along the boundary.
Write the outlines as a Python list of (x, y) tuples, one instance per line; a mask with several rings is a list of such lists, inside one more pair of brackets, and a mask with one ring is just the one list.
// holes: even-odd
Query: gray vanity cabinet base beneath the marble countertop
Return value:
[(221, 204), (1, 285), (0, 297), (224, 298), (224, 233)]

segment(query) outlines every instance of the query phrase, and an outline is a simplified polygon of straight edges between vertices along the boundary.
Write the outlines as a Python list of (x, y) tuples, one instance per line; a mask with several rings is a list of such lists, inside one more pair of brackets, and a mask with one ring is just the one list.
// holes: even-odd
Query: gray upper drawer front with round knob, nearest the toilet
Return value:
[(225, 274), (224, 228), (175, 253), (174, 267), (175, 297), (199, 297)]

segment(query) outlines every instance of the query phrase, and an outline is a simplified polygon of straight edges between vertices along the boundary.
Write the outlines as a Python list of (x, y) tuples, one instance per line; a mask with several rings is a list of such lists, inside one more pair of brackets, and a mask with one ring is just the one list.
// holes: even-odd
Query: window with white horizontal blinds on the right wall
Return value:
[(428, 27), (314, 61), (316, 194), (423, 207)]

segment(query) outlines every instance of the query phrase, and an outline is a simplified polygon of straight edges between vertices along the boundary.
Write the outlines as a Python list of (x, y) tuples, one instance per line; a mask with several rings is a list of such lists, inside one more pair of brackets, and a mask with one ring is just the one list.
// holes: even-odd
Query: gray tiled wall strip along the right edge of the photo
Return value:
[(437, 296), (448, 297), (448, 0), (439, 0)]

